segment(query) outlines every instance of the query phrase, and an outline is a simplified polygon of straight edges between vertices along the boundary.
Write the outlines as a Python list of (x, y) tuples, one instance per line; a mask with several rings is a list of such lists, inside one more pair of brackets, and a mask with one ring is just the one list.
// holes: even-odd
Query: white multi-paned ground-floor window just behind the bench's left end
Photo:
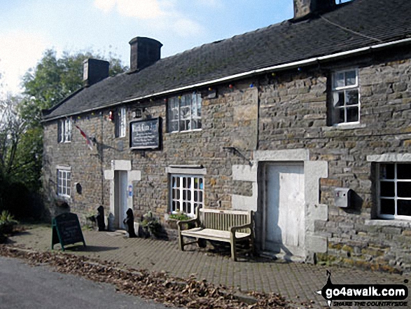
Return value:
[(195, 208), (204, 206), (204, 178), (179, 174), (170, 177), (170, 211), (194, 217)]

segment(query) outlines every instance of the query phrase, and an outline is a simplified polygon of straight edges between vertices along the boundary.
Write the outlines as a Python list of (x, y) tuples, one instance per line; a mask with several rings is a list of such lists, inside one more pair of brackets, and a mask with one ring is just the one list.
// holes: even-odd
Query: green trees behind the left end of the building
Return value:
[[(83, 62), (88, 58), (104, 59), (93, 52), (64, 52), (57, 57), (55, 50), (46, 50), (36, 67), (22, 78), (24, 96), (0, 99), (0, 209), (11, 186), (39, 192), (43, 160), (41, 110), (54, 107), (82, 87)], [(127, 70), (116, 57), (110, 55), (108, 61), (110, 76)]]

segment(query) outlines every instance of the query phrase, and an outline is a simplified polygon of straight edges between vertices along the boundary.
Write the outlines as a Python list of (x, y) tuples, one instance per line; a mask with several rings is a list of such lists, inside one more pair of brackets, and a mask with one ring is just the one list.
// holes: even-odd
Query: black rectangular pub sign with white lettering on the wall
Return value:
[(130, 122), (130, 148), (160, 148), (160, 117)]

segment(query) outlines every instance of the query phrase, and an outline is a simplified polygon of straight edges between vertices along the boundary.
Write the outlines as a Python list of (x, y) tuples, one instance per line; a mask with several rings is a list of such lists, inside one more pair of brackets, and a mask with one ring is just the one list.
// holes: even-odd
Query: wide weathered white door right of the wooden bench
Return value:
[(304, 256), (304, 165), (266, 165), (265, 180), (264, 249)]

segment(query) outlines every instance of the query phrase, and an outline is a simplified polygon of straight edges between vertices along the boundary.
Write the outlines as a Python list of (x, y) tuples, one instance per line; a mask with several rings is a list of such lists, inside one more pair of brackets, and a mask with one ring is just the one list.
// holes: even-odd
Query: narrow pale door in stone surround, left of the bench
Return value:
[(123, 223), (124, 219), (127, 217), (125, 212), (127, 212), (127, 171), (119, 170), (114, 172), (114, 186), (115, 186), (115, 196), (114, 196), (114, 212), (116, 216), (116, 227), (125, 229)]

